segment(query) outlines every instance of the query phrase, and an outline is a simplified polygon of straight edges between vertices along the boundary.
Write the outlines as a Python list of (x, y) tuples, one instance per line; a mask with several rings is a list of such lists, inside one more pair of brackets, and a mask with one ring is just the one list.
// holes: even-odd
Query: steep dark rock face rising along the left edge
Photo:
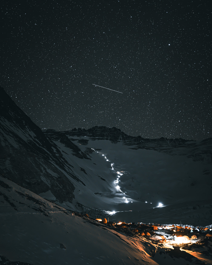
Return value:
[[(41, 129), (0, 89), (0, 169), (2, 176), (40, 194), (48, 190), (60, 202), (72, 201), (71, 165)], [(81, 154), (65, 135), (69, 147)]]

